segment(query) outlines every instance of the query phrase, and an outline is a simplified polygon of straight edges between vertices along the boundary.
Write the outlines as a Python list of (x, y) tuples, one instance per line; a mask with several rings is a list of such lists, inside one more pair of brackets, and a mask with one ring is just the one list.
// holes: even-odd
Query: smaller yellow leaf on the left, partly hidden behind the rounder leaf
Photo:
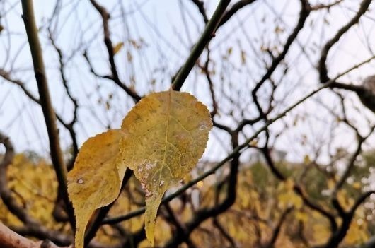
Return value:
[(68, 173), (68, 191), (76, 215), (76, 248), (83, 247), (86, 225), (93, 211), (112, 203), (120, 193), (125, 167), (117, 170), (121, 133), (109, 130), (89, 138)]

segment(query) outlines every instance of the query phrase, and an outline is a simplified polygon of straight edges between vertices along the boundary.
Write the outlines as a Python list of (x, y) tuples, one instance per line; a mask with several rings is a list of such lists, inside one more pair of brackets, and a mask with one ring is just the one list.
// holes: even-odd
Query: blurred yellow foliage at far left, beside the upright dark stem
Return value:
[[(57, 180), (53, 167), (44, 160), (30, 161), (25, 155), (17, 154), (8, 166), (8, 187), (16, 201), (42, 225), (51, 230), (62, 230), (64, 223), (54, 221), (52, 212), (57, 196)], [(8, 211), (0, 199), (0, 222), (19, 226), (21, 221)]]

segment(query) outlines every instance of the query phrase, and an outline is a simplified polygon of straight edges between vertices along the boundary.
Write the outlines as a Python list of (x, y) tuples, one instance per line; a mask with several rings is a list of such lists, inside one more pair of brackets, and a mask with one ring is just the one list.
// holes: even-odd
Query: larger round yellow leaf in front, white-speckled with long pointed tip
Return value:
[(152, 93), (122, 121), (120, 153), (146, 194), (146, 237), (154, 227), (163, 194), (190, 172), (207, 145), (212, 120), (207, 107), (189, 93)]

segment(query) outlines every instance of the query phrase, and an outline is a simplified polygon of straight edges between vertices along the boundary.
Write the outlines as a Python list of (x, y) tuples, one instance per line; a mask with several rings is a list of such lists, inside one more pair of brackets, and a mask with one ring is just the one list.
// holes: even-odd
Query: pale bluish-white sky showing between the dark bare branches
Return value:
[[(99, 2), (105, 4), (112, 13), (110, 28), (113, 44), (125, 42), (125, 46), (115, 56), (120, 77), (128, 85), (134, 78), (134, 88), (142, 95), (150, 90), (168, 89), (171, 75), (188, 57), (190, 46), (197, 40), (204, 28), (197, 8), (190, 1), (185, 0), (125, 1), (123, 10), (119, 8), (118, 1)], [(359, 3), (357, 0), (344, 2), (342, 6), (330, 9), (329, 13), (321, 11), (309, 16), (305, 29), (299, 34), (298, 42), (292, 45), (287, 54), (287, 60), (293, 66), (289, 68), (285, 76), (282, 70), (274, 73), (274, 80), (283, 79), (282, 86), (278, 88), (275, 95), (275, 98), (279, 100), (279, 105), (275, 107), (272, 114), (282, 112), (304, 94), (318, 87), (318, 77), (313, 66), (317, 64), (320, 47), (351, 18)], [(217, 1), (205, 1), (205, 3), (211, 15)], [(82, 143), (86, 138), (105, 131), (108, 125), (111, 128), (118, 128), (122, 117), (132, 106), (132, 101), (126, 98), (113, 82), (98, 80), (90, 74), (88, 65), (81, 56), (83, 50), (87, 49), (89, 57), (94, 61), (93, 66), (96, 72), (103, 75), (109, 73), (108, 62), (105, 59), (107, 54), (102, 41), (101, 20), (96, 10), (89, 1), (83, 0), (62, 1), (62, 6), (60, 18), (58, 22), (52, 23), (51, 28), (57, 34), (57, 44), (67, 56), (76, 54), (67, 59), (66, 64), (69, 87), (82, 105), (79, 110), (79, 124), (75, 126), (79, 143)], [(37, 24), (42, 30), (40, 37), (54, 107), (64, 119), (70, 120), (72, 105), (59, 77), (57, 54), (47, 39), (46, 25), (53, 8), (54, 1), (35, 1), (35, 15)], [(188, 9), (188, 11), (181, 11), (181, 8)], [(370, 8), (374, 9), (374, 4)], [(6, 13), (6, 18), (0, 18), (0, 23), (4, 26), (4, 30), (0, 33), (1, 67), (13, 70), (12, 76), (24, 81), (27, 88), (36, 94), (30, 52), (21, 19), (21, 4), (18, 1), (4, 0), (0, 2), (0, 10), (1, 16)], [(248, 95), (248, 90), (251, 89), (250, 82), (257, 81), (264, 73), (261, 57), (265, 56), (260, 51), (260, 42), (264, 45), (278, 42), (283, 44), (287, 35), (292, 32), (298, 12), (299, 1), (259, 0), (233, 16), (229, 23), (219, 29), (217, 36), (210, 44), (212, 58), (217, 61), (217, 75), (214, 79), (217, 82), (219, 100), (222, 99), (223, 90), (224, 92), (227, 90), (238, 92), (244, 99), (240, 103), (243, 103), (242, 107), (246, 110), (246, 115), (252, 116), (255, 109), (247, 102), (250, 101)], [(281, 13), (282, 16), (280, 16)], [(336, 73), (345, 71), (371, 56), (375, 44), (368, 44), (368, 41), (375, 40), (375, 21), (371, 17), (374, 16), (373, 14), (374, 11), (367, 13), (361, 19), (361, 25), (352, 28), (331, 50), (328, 59), (330, 76), (335, 76)], [(275, 34), (277, 27), (284, 31)], [(247, 35), (243, 35), (243, 32)], [(132, 47), (131, 40), (142, 45), (140, 51)], [(250, 43), (248, 40), (253, 42)], [(82, 43), (88, 46), (83, 48)], [(301, 46), (306, 47), (306, 54), (301, 52)], [(226, 64), (223, 63), (225, 66), (219, 66), (223, 60), (222, 55), (229, 47), (233, 47), (230, 63), (225, 62)], [(247, 54), (246, 66), (243, 66), (242, 71), (231, 69), (231, 66), (235, 68), (241, 64), (238, 56), (241, 52), (239, 47)], [(132, 63), (127, 60), (127, 52), (132, 54)], [(374, 74), (374, 68), (374, 62), (362, 66), (342, 81), (357, 83), (362, 78)], [(224, 82), (219, 80), (220, 71), (226, 72)], [(154, 88), (149, 86), (153, 80), (156, 82)], [(236, 82), (232, 85), (233, 88), (227, 88), (226, 82), (229, 81)], [(204, 81), (199, 70), (190, 73), (182, 90), (193, 93), (206, 105), (212, 106), (207, 82)], [(260, 90), (260, 94), (267, 95), (267, 87)], [(348, 106), (362, 107), (354, 94), (344, 94), (347, 96), (345, 103)], [(105, 102), (109, 95), (113, 95), (113, 100), (110, 102), (110, 110), (107, 110)], [(229, 107), (229, 102), (222, 100), (221, 105), (225, 109)], [(330, 93), (330, 90), (323, 90), (305, 102), (285, 118), (287, 122), (294, 122), (296, 116), (300, 116), (299, 119), (302, 120), (295, 128), (283, 130), (282, 122), (272, 125), (273, 131), (283, 131), (282, 136), (276, 142), (276, 147), (280, 150), (288, 150), (289, 159), (300, 160), (306, 153), (316, 149), (314, 146), (326, 146), (332, 129), (335, 127), (334, 117), (331, 117), (326, 109), (328, 107), (340, 112), (335, 106), (338, 107), (337, 97)], [(363, 108), (355, 110), (354, 107), (350, 107), (349, 110), (350, 118), (365, 133), (368, 126), (366, 119), (374, 122), (373, 114)], [(217, 120), (225, 124), (234, 124), (233, 119), (226, 117), (225, 114)], [(39, 153), (47, 153), (47, 134), (40, 107), (30, 102), (18, 87), (2, 79), (0, 79), (0, 130), (11, 136), (18, 151), (36, 150)], [(67, 148), (70, 144), (69, 136), (63, 128), (60, 130), (63, 147)], [(250, 135), (252, 132), (252, 129), (246, 129), (246, 134)], [(311, 141), (311, 147), (299, 144), (301, 137), (304, 136)], [(352, 146), (352, 133), (345, 126), (334, 129), (333, 136), (335, 136), (334, 147), (350, 148)], [(204, 158), (209, 160), (224, 158), (230, 149), (222, 144), (228, 141), (229, 137), (222, 131), (212, 131)], [(322, 151), (323, 153), (326, 151)], [(242, 158), (246, 159), (246, 156), (248, 155), (245, 154)], [(324, 156), (321, 159), (325, 160)]]

